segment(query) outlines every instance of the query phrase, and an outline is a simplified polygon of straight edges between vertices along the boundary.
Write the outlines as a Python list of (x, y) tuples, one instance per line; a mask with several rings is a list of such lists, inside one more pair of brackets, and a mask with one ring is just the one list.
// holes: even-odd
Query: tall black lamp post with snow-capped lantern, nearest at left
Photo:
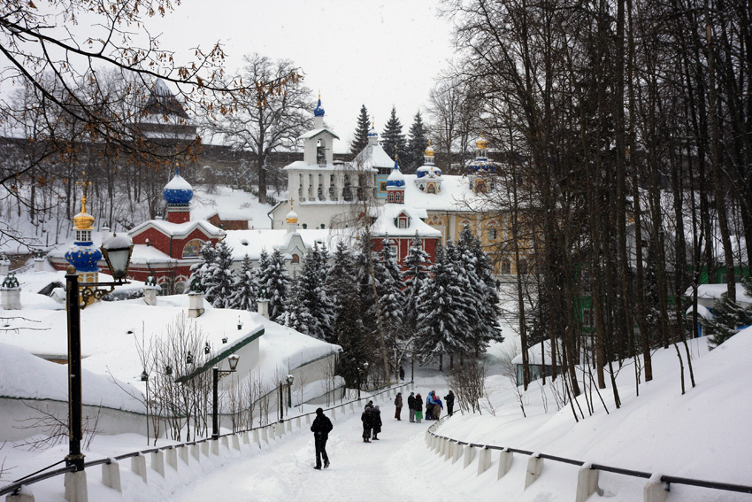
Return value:
[[(74, 472), (83, 470), (84, 455), (81, 453), (81, 297), (101, 298), (114, 290), (115, 286), (128, 284), (127, 272), (133, 244), (127, 235), (117, 234), (102, 243), (102, 254), (110, 267), (115, 282), (80, 283), (74, 266), (65, 271), (65, 308), (68, 312), (68, 455), (65, 465), (75, 467)], [(107, 287), (109, 290), (101, 289)], [(81, 294), (80, 294), (81, 293)]]

